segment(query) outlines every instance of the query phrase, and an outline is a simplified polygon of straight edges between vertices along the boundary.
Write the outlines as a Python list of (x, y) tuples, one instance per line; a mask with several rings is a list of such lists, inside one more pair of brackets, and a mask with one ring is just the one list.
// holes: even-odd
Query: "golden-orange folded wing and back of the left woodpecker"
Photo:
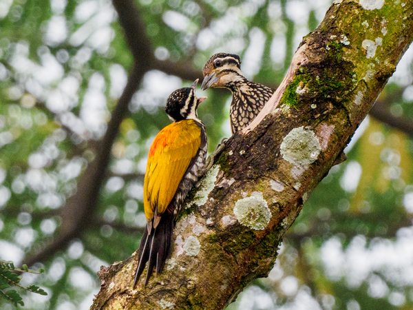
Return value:
[(172, 123), (159, 132), (149, 149), (144, 183), (147, 220), (167, 209), (184, 173), (200, 147), (201, 129), (192, 120)]

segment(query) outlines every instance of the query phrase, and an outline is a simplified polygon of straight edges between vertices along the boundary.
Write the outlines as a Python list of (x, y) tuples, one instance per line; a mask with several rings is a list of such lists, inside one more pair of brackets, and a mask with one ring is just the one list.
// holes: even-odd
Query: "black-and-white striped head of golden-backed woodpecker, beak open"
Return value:
[(198, 120), (198, 105), (207, 97), (197, 98), (195, 96), (197, 84), (198, 79), (192, 83), (191, 87), (180, 88), (169, 95), (165, 112), (171, 121), (178, 122), (189, 118)]

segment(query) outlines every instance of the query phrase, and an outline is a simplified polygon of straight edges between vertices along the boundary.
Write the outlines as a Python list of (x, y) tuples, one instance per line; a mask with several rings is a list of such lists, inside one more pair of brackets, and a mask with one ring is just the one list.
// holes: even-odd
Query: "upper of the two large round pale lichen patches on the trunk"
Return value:
[(317, 160), (321, 145), (312, 130), (305, 130), (301, 126), (284, 137), (280, 152), (286, 161), (295, 166), (310, 165)]

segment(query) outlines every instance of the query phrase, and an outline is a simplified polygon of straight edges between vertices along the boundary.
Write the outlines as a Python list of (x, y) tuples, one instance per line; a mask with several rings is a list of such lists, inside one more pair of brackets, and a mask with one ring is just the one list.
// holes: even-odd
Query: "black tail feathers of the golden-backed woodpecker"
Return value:
[(173, 231), (173, 214), (165, 211), (160, 218), (156, 228), (152, 228), (151, 234), (148, 234), (148, 227), (145, 227), (139, 246), (138, 267), (136, 267), (134, 286), (142, 275), (145, 265), (148, 262), (147, 276), (145, 285), (151, 277), (153, 267), (156, 267), (156, 273), (160, 273), (165, 266), (165, 261), (171, 254), (171, 241)]

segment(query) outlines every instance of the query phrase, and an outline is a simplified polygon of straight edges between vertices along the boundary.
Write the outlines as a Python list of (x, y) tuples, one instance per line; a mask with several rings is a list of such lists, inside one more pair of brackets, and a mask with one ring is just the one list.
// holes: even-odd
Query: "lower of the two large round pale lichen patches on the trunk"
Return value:
[(264, 229), (271, 219), (271, 210), (262, 192), (254, 192), (249, 197), (237, 200), (233, 211), (240, 224), (255, 230)]

